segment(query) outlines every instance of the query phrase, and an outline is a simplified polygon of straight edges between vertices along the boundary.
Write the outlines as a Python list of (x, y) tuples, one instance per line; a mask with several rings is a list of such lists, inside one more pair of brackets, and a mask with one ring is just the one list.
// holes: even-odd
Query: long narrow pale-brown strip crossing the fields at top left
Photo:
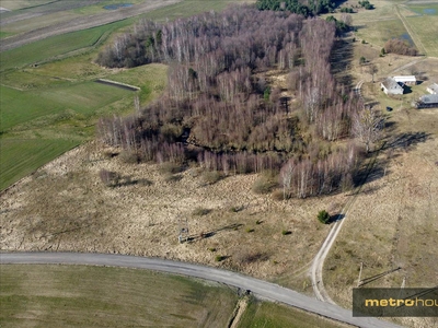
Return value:
[(60, 35), (69, 32), (96, 27), (125, 19), (138, 16), (160, 7), (170, 5), (182, 0), (153, 0), (145, 3), (135, 4), (128, 8), (108, 10), (107, 12), (73, 19), (62, 23), (57, 23), (46, 27), (30, 31), (23, 34), (3, 38), (0, 44), (0, 51), (10, 50), (23, 45), (47, 38), (49, 36)]

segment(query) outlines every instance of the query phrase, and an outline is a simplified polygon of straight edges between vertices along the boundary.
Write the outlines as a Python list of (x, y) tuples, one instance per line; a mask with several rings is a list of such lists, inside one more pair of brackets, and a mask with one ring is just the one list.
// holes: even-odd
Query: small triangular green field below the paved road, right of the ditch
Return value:
[(252, 301), (239, 325), (240, 328), (313, 328), (313, 327), (348, 327), (316, 315), (269, 302)]

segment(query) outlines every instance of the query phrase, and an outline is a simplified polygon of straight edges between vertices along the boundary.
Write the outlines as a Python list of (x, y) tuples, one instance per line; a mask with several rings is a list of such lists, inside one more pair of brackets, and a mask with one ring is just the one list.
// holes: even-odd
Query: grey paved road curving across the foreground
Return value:
[(277, 284), (246, 277), (232, 271), (215, 269), (205, 266), (191, 265), (158, 258), (146, 258), (127, 255), (112, 254), (82, 254), (82, 253), (1, 253), (0, 263), (65, 263), (65, 265), (92, 265), (108, 267), (125, 267), (163, 271), (175, 274), (201, 278), (242, 290), (250, 290), (256, 296), (281, 302), (308, 312), (316, 313), (324, 317), (347, 323), (364, 328), (394, 328), (396, 325), (378, 320), (376, 318), (354, 318), (351, 312), (333, 304), (301, 295), (295, 291)]

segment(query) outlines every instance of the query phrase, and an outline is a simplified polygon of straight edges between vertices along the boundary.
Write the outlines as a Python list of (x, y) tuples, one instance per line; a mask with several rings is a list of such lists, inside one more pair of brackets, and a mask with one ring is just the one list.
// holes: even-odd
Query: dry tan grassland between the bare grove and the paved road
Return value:
[[(1, 249), (157, 256), (270, 280), (311, 261), (330, 229), (318, 222), (318, 211), (338, 211), (346, 198), (278, 202), (252, 191), (254, 174), (206, 184), (193, 167), (166, 180), (159, 165), (123, 164), (110, 152), (85, 144), (4, 192)], [(102, 169), (119, 174), (120, 186), (105, 186)], [(150, 184), (137, 183), (145, 179)], [(197, 215), (196, 208), (209, 211)], [(185, 220), (191, 241), (180, 244)], [(218, 255), (224, 259), (216, 261)]]

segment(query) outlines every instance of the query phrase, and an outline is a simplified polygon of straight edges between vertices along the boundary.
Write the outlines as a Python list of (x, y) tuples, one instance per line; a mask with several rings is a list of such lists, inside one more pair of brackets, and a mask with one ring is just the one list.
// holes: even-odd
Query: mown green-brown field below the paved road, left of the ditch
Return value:
[(145, 270), (1, 266), (0, 326), (227, 327), (226, 286)]

